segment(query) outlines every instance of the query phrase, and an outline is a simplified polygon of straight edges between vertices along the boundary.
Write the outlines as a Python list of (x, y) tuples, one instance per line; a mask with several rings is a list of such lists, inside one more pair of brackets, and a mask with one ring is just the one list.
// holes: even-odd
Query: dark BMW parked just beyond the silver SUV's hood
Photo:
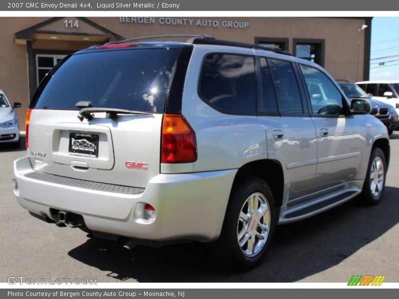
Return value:
[(398, 128), (398, 113), (396, 112), (394, 106), (378, 100), (374, 100), (369, 94), (367, 94), (362, 88), (360, 88), (359, 85), (356, 85), (354, 83), (338, 83), (338, 85), (341, 87), (341, 89), (344, 91), (345, 95), (349, 99), (368, 99), (372, 107), (372, 111), (370, 114), (374, 115), (376, 118), (383, 122), (383, 124), (387, 127), (388, 134), (390, 136), (394, 132), (394, 130)]

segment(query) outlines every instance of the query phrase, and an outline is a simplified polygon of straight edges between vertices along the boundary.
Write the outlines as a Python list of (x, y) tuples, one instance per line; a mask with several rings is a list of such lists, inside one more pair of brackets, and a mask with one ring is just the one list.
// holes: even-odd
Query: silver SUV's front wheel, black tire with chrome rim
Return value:
[(387, 162), (385, 154), (382, 149), (374, 148), (370, 155), (366, 179), (362, 193), (358, 197), (358, 202), (366, 206), (378, 204), (384, 194), (386, 177)]

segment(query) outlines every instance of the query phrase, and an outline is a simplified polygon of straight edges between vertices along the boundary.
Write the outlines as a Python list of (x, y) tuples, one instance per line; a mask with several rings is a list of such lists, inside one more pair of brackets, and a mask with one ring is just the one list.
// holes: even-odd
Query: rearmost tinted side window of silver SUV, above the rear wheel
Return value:
[(225, 113), (254, 114), (255, 64), (251, 56), (210, 54), (203, 61), (200, 95)]

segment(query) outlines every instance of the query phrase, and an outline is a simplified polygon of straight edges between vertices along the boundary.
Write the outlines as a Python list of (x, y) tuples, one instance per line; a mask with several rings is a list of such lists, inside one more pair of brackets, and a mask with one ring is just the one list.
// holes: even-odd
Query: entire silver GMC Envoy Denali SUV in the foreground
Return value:
[(40, 83), (13, 189), (58, 226), (127, 248), (205, 242), (217, 262), (248, 269), (277, 224), (381, 200), (390, 145), (370, 110), (319, 65), (277, 49), (108, 43)]

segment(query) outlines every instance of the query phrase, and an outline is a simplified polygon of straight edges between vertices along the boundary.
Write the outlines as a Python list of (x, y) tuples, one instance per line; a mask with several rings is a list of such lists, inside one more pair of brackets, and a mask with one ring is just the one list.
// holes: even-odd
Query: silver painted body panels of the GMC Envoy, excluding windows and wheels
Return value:
[[(237, 171), (251, 163), (273, 161), (280, 167), (284, 181), (279, 223), (310, 217), (361, 192), (373, 145), (388, 143), (387, 129), (378, 119), (218, 112), (198, 94), (203, 58), (214, 52), (301, 63), (334, 82), (317, 64), (292, 56), (194, 45), (182, 115), (196, 135), (195, 162), (160, 163), (162, 114), (122, 115), (116, 126), (101, 113), (80, 122), (78, 111), (33, 109), (28, 155), (14, 162), (18, 203), (52, 219), (56, 215), (51, 209), (82, 215), (86, 226), (96, 232), (141, 240), (207, 242), (220, 234)], [(69, 155), (71, 131), (98, 134), (98, 158)], [(283, 136), (276, 139), (276, 132)], [(148, 169), (127, 168), (126, 161), (145, 162)], [(153, 222), (143, 217), (146, 203), (157, 211)]]

